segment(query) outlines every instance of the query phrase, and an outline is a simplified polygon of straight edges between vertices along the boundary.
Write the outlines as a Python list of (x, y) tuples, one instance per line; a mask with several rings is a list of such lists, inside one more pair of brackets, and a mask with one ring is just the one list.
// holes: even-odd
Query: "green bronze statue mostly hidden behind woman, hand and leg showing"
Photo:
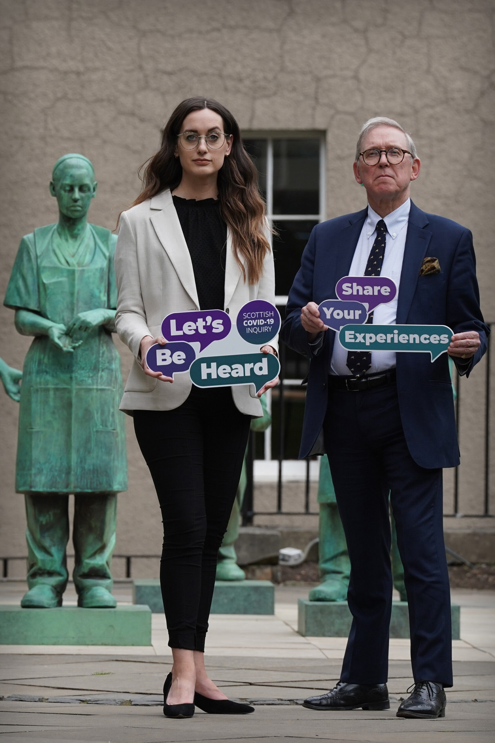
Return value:
[[(260, 398), (261, 407), (263, 408), (263, 418), (253, 418), (251, 421), (251, 430), (257, 433), (266, 431), (272, 423), (272, 416), (266, 407), (264, 396)], [(247, 453), (247, 450), (246, 450)], [(243, 507), (244, 493), (246, 493), (247, 470), (246, 455), (244, 455), (243, 468), (240, 473), (240, 480), (235, 494), (235, 501), (232, 507), (232, 513), (229, 519), (227, 531), (223, 537), (222, 546), (218, 551), (217, 562), (217, 580), (244, 580), (246, 574), (242, 568), (237, 565), (237, 555), (235, 554), (234, 542), (239, 536), (239, 527), (242, 522), (241, 510)]]

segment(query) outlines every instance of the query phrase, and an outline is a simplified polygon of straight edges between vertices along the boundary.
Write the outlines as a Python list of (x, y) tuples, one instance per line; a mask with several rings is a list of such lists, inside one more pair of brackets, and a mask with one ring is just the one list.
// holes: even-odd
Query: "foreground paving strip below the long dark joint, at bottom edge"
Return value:
[(396, 718), (384, 712), (318, 713), (295, 705), (256, 708), (247, 716), (196, 713), (189, 720), (164, 718), (157, 707), (103, 707), (0, 702), (1, 740), (112, 743), (239, 743), (283, 739), (370, 743), (488, 743), (494, 737), (495, 704), (452, 704), (439, 720)]

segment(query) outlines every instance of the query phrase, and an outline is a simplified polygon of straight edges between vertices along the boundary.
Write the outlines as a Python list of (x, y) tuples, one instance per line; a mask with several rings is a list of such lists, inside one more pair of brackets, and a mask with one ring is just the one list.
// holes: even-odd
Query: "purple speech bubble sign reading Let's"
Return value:
[(214, 340), (229, 335), (232, 322), (223, 310), (191, 310), (172, 312), (162, 322), (162, 333), (166, 340), (185, 340), (199, 343), (200, 351)]

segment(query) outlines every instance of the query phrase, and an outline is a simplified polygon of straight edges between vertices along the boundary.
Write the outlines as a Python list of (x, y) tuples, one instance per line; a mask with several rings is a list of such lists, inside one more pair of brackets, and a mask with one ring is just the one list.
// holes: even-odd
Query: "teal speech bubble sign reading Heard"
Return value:
[(230, 387), (254, 384), (256, 392), (278, 376), (280, 363), (274, 354), (229, 354), (196, 359), (189, 375), (197, 387)]

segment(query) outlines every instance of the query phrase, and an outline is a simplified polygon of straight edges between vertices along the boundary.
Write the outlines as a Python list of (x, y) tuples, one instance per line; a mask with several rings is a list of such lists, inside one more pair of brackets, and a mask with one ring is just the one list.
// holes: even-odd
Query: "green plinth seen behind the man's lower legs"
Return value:
[[(460, 607), (452, 606), (452, 639), (459, 640)], [(353, 621), (347, 601), (298, 600), (298, 632), (303, 637), (347, 637)], [(407, 601), (392, 603), (390, 637), (409, 637)]]

